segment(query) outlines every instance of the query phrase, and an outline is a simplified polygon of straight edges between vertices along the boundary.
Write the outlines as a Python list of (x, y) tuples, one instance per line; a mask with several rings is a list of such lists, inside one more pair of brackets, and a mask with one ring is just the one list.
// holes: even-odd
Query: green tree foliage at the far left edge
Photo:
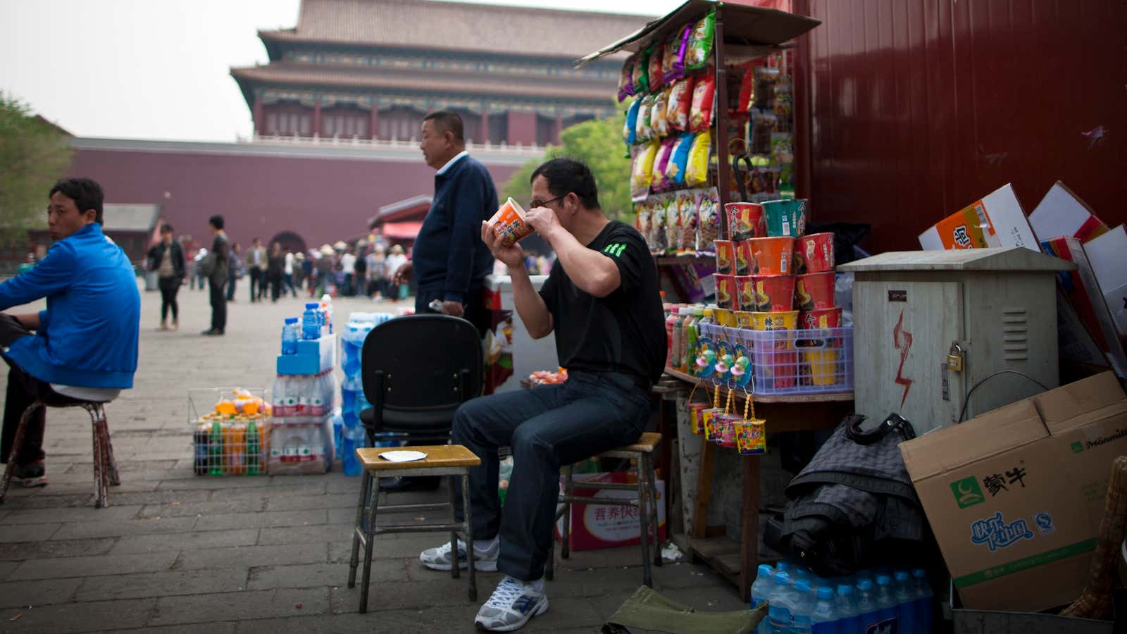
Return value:
[(46, 224), (47, 192), (70, 164), (66, 134), (0, 91), (0, 243)]

